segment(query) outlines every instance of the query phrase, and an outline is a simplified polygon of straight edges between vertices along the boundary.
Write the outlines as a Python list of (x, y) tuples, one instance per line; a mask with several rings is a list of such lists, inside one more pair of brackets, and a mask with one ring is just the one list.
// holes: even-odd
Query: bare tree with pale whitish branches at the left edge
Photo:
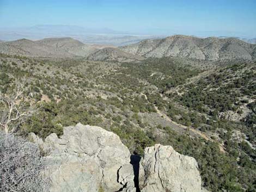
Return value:
[(36, 112), (25, 79), (17, 79), (10, 89), (0, 92), (0, 127), (5, 133), (15, 133), (28, 117)]

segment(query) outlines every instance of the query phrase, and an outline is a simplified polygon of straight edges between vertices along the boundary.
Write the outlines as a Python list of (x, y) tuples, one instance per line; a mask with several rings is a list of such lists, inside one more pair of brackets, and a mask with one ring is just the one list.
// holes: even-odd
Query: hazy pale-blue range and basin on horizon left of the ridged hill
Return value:
[(44, 38), (62, 38), (69, 36), (86, 44), (109, 44), (122, 46), (134, 44), (144, 39), (163, 38), (164, 36), (138, 35), (119, 32), (108, 28), (85, 28), (65, 25), (39, 25), (33, 27), (1, 28), (0, 39), (14, 41), (17, 39), (39, 40)]

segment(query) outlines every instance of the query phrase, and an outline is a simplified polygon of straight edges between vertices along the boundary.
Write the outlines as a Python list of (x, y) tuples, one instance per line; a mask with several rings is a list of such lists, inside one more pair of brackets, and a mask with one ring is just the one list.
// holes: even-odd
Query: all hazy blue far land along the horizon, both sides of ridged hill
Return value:
[[(4, 41), (14, 41), (18, 39), (31, 39), (39, 40), (45, 38), (62, 38), (71, 37), (80, 40), (84, 44), (108, 44), (114, 46), (124, 46), (130, 44), (136, 44), (139, 41), (145, 39), (162, 39), (166, 38), (167, 34), (175, 34), (170, 30), (168, 33), (156, 30), (155, 33), (149, 33), (151, 30), (146, 30), (141, 33), (132, 33), (125, 31), (117, 31), (109, 28), (88, 28), (81, 26), (69, 26), (69, 25), (37, 25), (32, 27), (13, 27), (0, 29), (0, 39)], [(158, 35), (153, 35), (158, 34)], [(163, 35), (166, 34), (166, 35)], [(178, 33), (179, 34), (179, 33)], [(237, 35), (236, 39), (241, 39), (250, 44), (255, 44), (255, 39), (248, 39), (245, 34), (234, 32), (195, 32), (196, 36), (216, 36), (220, 39), (227, 39), (230, 36)], [(224, 34), (227, 36), (218, 36), (218, 34)], [(247, 38), (247, 39), (245, 39)]]

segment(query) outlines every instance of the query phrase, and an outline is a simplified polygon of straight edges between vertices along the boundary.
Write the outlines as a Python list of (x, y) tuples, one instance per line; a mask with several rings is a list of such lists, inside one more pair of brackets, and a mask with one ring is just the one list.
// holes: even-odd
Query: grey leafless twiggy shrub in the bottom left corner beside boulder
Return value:
[(47, 192), (50, 182), (39, 148), (25, 139), (0, 131), (0, 191)]

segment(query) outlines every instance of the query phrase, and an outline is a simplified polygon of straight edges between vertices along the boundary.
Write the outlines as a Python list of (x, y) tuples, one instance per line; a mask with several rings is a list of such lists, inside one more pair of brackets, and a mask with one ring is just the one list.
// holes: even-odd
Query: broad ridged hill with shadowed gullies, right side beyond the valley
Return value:
[(181, 57), (209, 61), (256, 59), (256, 45), (235, 38), (200, 39), (174, 35), (165, 39), (143, 40), (120, 49), (147, 58)]

